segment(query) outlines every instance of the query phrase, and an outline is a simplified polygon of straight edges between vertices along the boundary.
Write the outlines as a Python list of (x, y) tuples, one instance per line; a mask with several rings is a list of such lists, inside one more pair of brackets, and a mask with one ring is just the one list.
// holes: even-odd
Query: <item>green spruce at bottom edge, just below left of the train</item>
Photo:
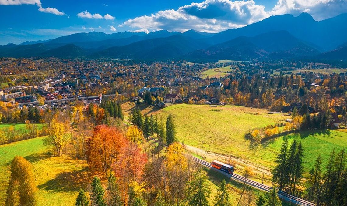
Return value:
[(198, 170), (194, 174), (194, 179), (190, 182), (190, 197), (188, 205), (190, 206), (208, 206), (208, 198), (211, 190), (207, 182), (207, 177), (202, 166), (198, 167)]

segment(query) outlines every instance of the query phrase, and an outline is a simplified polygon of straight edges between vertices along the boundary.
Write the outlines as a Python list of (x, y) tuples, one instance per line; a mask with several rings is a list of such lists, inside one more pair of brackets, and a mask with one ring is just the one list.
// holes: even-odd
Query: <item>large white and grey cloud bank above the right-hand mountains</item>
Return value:
[[(256, 0), (255, 0), (256, 1)], [(206, 32), (219, 32), (243, 27), (272, 15), (301, 12), (310, 13), (321, 20), (347, 12), (346, 0), (278, 0), (269, 11), (254, 0), (205, 0), (179, 7), (158, 11), (149, 16), (129, 19), (119, 26), (137, 30), (157, 31), (161, 29), (184, 32), (189, 29)]]

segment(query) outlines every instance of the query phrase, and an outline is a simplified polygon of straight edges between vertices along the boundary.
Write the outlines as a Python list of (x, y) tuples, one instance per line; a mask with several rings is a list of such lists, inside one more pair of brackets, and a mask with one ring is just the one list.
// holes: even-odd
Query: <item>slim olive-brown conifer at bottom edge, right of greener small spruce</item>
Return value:
[(107, 192), (107, 205), (109, 206), (121, 206), (123, 203), (121, 201), (118, 184), (116, 182), (116, 177), (111, 173), (108, 178)]

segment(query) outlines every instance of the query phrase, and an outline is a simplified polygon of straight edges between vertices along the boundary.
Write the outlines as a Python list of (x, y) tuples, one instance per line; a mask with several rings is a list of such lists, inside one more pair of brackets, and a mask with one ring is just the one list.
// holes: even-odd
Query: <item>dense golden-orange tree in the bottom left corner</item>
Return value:
[(23, 157), (16, 156), (12, 160), (10, 171), (5, 206), (35, 206), (37, 188), (31, 163)]

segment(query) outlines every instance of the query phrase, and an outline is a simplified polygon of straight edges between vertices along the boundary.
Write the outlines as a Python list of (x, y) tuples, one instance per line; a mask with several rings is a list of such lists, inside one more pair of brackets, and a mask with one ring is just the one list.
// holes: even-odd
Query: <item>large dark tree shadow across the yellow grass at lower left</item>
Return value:
[[(52, 191), (53, 193), (79, 191), (81, 188), (86, 189), (94, 176), (95, 174), (88, 167), (81, 170), (61, 172), (54, 179), (38, 185), (37, 188)], [(96, 176), (100, 176), (100, 174)], [(103, 178), (101, 179), (103, 180)]]

